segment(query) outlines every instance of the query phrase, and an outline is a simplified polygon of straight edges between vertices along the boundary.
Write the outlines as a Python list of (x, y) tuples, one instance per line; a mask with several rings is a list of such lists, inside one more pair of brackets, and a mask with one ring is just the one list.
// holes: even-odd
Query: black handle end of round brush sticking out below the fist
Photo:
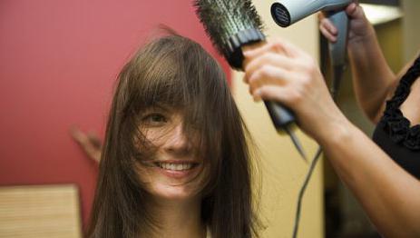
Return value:
[(295, 114), (293, 114), (288, 107), (272, 101), (264, 101), (264, 104), (269, 111), (271, 121), (276, 127), (278, 133), (284, 133), (285, 129), (287, 129), (290, 125), (295, 124)]

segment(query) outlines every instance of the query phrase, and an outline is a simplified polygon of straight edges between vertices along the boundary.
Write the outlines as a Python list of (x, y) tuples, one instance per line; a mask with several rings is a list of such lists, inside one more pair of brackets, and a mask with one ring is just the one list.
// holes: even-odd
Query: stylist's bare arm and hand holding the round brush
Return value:
[(256, 101), (285, 104), (357, 196), (379, 233), (420, 237), (420, 182), (340, 112), (315, 60), (282, 39), (244, 53), (244, 81)]

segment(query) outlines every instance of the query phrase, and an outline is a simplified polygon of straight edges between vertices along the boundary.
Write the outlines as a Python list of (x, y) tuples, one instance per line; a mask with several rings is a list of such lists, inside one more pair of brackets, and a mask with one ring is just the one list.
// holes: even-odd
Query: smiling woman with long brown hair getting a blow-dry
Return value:
[(113, 96), (89, 237), (254, 237), (249, 133), (219, 64), (180, 35), (132, 57)]

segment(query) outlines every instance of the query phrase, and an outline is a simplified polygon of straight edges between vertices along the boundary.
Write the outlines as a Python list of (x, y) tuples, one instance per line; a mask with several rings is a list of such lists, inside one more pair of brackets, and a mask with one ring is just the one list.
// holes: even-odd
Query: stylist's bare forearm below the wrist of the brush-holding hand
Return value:
[(356, 126), (337, 124), (319, 141), (337, 174), (386, 237), (420, 237), (420, 182)]

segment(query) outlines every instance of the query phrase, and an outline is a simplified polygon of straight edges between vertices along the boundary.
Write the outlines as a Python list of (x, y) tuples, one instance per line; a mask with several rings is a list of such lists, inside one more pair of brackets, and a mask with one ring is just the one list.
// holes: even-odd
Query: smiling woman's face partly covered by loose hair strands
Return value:
[[(165, 107), (141, 114), (140, 130), (155, 151), (139, 163), (138, 174), (152, 196), (184, 200), (197, 197), (204, 186), (206, 170), (194, 142), (183, 132), (183, 115)], [(140, 146), (142, 149), (142, 146)]]

